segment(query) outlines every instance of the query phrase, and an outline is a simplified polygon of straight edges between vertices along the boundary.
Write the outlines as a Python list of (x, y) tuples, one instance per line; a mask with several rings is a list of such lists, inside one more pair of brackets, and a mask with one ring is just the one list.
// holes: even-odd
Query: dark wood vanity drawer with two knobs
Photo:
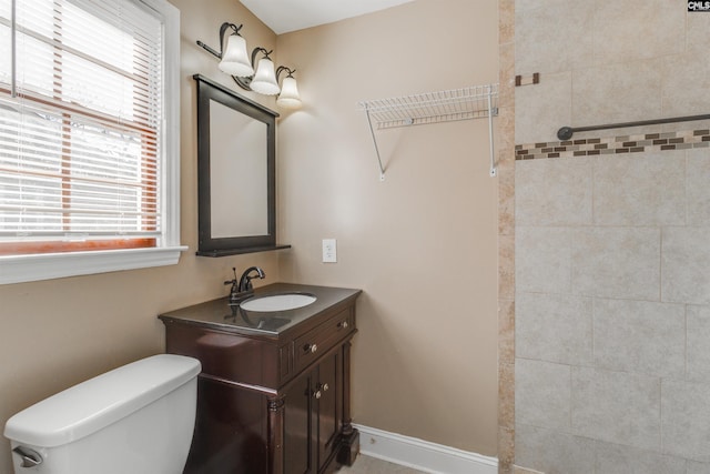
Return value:
[(294, 362), (296, 372), (305, 369), (321, 354), (334, 347), (343, 337), (355, 330), (355, 314), (352, 309), (345, 309), (314, 327), (294, 342)]

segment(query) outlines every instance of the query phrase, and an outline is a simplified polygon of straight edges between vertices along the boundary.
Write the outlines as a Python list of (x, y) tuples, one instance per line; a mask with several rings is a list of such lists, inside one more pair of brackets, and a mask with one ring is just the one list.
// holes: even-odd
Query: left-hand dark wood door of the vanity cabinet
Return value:
[(313, 474), (316, 472), (313, 454), (313, 392), (314, 373), (296, 379), (286, 391), (284, 404), (284, 472)]

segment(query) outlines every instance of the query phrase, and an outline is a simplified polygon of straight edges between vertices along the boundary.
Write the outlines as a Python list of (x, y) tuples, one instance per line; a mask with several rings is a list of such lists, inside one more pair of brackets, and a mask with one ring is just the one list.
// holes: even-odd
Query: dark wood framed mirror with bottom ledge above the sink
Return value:
[(203, 75), (197, 83), (197, 255), (276, 244), (276, 117)]

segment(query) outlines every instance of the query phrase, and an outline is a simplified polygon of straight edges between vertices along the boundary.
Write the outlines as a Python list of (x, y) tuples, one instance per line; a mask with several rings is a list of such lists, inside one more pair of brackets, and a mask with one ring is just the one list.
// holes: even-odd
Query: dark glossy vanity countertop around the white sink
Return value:
[(170, 311), (158, 317), (163, 320), (164, 323), (182, 322), (239, 334), (253, 333), (278, 336), (310, 317), (317, 316), (337, 305), (349, 304), (361, 292), (361, 290), (344, 288), (272, 283), (254, 289), (254, 296), (307, 293), (316, 296), (316, 301), (295, 310), (261, 312), (231, 306), (229, 296), (224, 296)]

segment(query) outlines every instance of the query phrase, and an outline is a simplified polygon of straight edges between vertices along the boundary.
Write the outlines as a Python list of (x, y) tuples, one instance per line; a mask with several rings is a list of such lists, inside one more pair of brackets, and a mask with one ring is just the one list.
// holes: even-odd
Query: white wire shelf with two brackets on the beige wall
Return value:
[(377, 148), (375, 128), (384, 130), (483, 118), (488, 118), (489, 121), (490, 175), (495, 177), (493, 118), (498, 114), (498, 84), (488, 84), (358, 102), (361, 110), (367, 115), (373, 135), (379, 179), (384, 181), (385, 169)]

